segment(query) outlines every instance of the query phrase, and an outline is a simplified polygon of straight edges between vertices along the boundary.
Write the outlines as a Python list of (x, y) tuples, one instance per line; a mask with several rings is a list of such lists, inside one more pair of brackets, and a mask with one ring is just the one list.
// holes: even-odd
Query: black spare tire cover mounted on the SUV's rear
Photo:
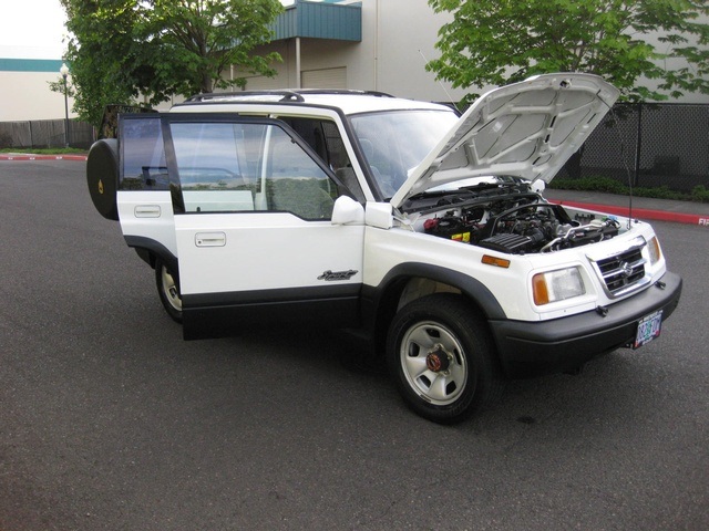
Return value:
[(119, 140), (94, 143), (86, 159), (86, 184), (93, 206), (106, 219), (119, 220)]

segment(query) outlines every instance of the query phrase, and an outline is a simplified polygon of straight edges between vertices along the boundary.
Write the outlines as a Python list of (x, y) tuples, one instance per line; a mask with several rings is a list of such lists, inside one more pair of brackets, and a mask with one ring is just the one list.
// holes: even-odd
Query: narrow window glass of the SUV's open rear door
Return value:
[(160, 116), (125, 115), (120, 123), (120, 190), (167, 190), (169, 178)]

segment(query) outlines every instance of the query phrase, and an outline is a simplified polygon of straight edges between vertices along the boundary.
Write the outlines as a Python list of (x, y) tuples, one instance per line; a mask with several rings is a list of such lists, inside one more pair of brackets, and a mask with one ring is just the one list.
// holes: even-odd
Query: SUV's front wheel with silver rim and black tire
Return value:
[(460, 295), (438, 293), (401, 309), (387, 357), (404, 402), (434, 423), (460, 423), (501, 389), (486, 326)]

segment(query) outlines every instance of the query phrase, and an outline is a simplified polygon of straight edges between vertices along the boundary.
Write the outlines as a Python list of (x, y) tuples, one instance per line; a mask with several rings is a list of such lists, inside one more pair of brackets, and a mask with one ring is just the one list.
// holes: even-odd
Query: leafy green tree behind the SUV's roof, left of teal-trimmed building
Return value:
[(66, 61), (74, 111), (94, 125), (107, 104), (154, 105), (171, 95), (243, 86), (226, 69), (274, 75), (270, 41), (278, 0), (60, 0), (66, 11)]

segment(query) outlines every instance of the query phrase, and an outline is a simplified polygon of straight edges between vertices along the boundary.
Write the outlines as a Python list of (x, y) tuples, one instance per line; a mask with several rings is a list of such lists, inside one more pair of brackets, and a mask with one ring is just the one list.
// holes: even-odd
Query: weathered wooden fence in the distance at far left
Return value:
[(0, 148), (70, 146), (88, 149), (94, 138), (94, 128), (90, 124), (75, 119), (0, 122)]

